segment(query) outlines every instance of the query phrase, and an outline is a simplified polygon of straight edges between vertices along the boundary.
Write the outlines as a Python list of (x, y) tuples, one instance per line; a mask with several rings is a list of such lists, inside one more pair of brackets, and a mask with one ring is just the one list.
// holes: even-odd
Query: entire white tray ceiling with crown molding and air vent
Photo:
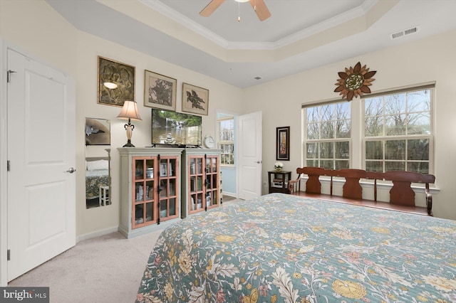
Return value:
[(209, 17), (209, 0), (46, 1), (81, 31), (237, 87), (456, 28), (456, 0), (264, 0), (266, 21), (234, 0)]

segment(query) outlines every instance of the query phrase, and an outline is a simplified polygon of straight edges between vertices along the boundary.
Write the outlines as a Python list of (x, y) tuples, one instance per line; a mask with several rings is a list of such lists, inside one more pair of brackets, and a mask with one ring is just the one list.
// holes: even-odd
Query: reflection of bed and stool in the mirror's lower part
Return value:
[(110, 205), (109, 156), (86, 157), (86, 208)]

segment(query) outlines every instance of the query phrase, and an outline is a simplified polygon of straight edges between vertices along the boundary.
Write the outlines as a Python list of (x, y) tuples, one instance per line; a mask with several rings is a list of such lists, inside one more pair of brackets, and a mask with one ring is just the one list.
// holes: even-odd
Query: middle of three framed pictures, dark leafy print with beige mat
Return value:
[(176, 111), (177, 80), (145, 70), (144, 105)]

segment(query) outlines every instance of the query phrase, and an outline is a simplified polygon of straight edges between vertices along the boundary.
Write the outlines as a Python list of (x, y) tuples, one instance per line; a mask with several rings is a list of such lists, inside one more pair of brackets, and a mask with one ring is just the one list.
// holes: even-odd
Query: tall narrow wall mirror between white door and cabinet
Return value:
[(86, 118), (86, 208), (111, 204), (110, 120)]

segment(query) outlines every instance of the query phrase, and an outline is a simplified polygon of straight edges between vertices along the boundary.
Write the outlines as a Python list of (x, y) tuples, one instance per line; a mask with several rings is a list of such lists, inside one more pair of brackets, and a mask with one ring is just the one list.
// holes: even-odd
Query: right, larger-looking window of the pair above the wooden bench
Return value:
[(364, 99), (367, 171), (430, 174), (432, 92), (410, 90)]

